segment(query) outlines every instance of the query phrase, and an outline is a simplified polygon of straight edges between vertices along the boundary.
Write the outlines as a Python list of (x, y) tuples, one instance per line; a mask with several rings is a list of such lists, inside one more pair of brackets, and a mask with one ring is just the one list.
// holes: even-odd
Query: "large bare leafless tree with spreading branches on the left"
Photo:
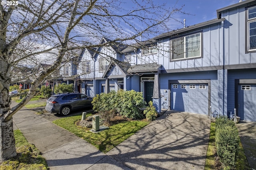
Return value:
[[(122, 8), (118, 0), (19, 0), (0, 5), (0, 162), (16, 156), (12, 116), (34, 96), (36, 88), (59, 68), (68, 51), (125, 43), (140, 35), (166, 31), (166, 21), (180, 9), (166, 9), (153, 0), (133, 0), (134, 7)], [(102, 46), (108, 45), (101, 44)], [(8, 95), (13, 68), (48, 61), (50, 66), (33, 75), (27, 96), (10, 107)], [(10, 76), (11, 75), (11, 76)]]

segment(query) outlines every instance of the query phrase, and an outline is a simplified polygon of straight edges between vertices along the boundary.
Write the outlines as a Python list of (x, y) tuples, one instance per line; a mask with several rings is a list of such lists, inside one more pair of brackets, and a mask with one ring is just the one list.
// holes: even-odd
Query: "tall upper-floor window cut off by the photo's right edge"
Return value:
[(256, 6), (247, 9), (247, 52), (256, 51)]

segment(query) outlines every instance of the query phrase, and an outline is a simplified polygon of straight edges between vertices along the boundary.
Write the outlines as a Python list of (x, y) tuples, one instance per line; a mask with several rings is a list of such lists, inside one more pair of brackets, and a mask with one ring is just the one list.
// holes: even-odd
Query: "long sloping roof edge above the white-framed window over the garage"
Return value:
[(218, 22), (222, 22), (222, 21), (225, 21), (225, 18), (205, 21), (205, 22), (202, 22), (202, 23), (198, 23), (196, 25), (192, 25), (192, 26), (188, 26), (188, 27), (185, 27), (185, 28), (173, 30), (173, 31), (170, 31), (170, 32), (167, 32), (167, 33), (162, 33), (162, 34), (154, 37), (154, 39), (157, 40), (157, 39), (168, 37), (168, 36), (171, 36), (171, 35), (176, 35), (178, 33), (182, 33), (182, 32), (185, 32), (185, 31), (190, 31), (192, 29), (197, 29), (197, 28), (200, 28), (200, 27), (212, 25), (214, 23), (218, 23)]

